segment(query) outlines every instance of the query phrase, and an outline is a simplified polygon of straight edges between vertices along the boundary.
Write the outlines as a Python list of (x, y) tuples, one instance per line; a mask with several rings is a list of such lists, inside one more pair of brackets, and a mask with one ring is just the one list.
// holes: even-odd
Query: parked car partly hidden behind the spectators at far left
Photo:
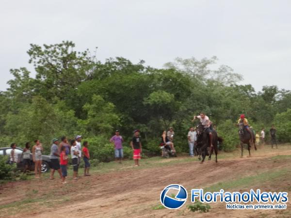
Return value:
[[(0, 148), (0, 155), (3, 156), (8, 156), (8, 159), (10, 158), (10, 152), (11, 152), (12, 148), (11, 147), (4, 147), (4, 148)], [(23, 164), (23, 157), (21, 156), (23, 149), (16, 147), (15, 152), (18, 156), (18, 159), (20, 158), (20, 161), (17, 163), (17, 169), (19, 170), (24, 170), (24, 164)], [(32, 153), (31, 153), (31, 169), (29, 169), (30, 171), (34, 171), (34, 162), (32, 161)], [(8, 161), (7, 161), (8, 163)], [(50, 159), (48, 155), (42, 155), (42, 164), (41, 164), (41, 172), (47, 172), (49, 171), (50, 168)]]

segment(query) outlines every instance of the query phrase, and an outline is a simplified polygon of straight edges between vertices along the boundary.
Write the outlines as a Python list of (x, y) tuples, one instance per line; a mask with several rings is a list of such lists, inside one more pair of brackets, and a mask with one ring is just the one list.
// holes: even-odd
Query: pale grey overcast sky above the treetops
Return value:
[[(76, 43), (97, 59), (162, 67), (217, 56), (243, 84), (291, 89), (290, 0), (1, 0), (0, 90), (27, 67), (29, 44)], [(34, 76), (34, 73), (32, 74)]]

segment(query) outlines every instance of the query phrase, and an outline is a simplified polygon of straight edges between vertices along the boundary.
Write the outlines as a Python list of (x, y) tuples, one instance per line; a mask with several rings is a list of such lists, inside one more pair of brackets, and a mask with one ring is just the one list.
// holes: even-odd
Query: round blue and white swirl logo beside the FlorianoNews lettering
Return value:
[[(175, 197), (167, 196), (170, 190), (178, 190)], [(186, 188), (178, 184), (172, 184), (165, 187), (160, 196), (161, 203), (164, 207), (168, 209), (179, 209), (187, 201), (188, 193)]]

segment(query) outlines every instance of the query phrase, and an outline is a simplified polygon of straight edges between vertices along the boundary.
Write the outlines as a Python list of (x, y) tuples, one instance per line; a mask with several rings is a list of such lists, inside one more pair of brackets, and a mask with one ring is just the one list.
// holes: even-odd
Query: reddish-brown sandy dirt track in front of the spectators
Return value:
[[(208, 213), (190, 212), (186, 205), (178, 210), (153, 209), (160, 204), (160, 193), (169, 184), (181, 184), (189, 191), (191, 188), (209, 187), (218, 182), (291, 167), (291, 163), (284, 159), (271, 158), (276, 155), (291, 155), (291, 150), (274, 149), (260, 156), (254, 154), (253, 157), (221, 159), (217, 164), (214, 161), (204, 164), (194, 161), (148, 169), (132, 167), (126, 171), (81, 177), (65, 185), (60, 185), (59, 179), (11, 182), (0, 187), (0, 206), (16, 202), (15, 207), (18, 207), (17, 201), (21, 202), (29, 196), (46, 196), (46, 199), (22, 202), (25, 203), (24, 208), (16, 213), (13, 213), (13, 207), (4, 207), (0, 209), (0, 217), (290, 217), (291, 213), (286, 212), (291, 208), (290, 203), (286, 211), (226, 210), (225, 203), (211, 203)], [(288, 191), (291, 176), (286, 176), (286, 181), (279, 183), (266, 181), (236, 190), (260, 188), (263, 191)], [(186, 204), (189, 203), (190, 200)], [(27, 209), (29, 207), (32, 209)]]

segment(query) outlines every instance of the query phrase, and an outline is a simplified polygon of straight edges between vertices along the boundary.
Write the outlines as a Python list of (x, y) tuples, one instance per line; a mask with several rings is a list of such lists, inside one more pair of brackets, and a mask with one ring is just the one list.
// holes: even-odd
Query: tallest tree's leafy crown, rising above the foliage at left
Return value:
[(88, 50), (77, 52), (74, 47), (71, 41), (43, 47), (31, 44), (27, 53), (36, 71), (36, 93), (46, 99), (57, 96), (62, 100), (87, 78), (94, 59)]

